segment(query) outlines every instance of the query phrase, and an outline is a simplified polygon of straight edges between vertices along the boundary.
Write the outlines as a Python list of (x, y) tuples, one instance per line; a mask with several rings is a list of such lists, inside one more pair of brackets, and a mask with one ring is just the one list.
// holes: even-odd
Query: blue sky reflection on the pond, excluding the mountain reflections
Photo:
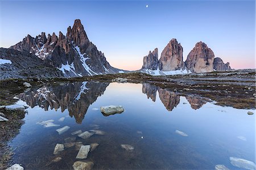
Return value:
[[(89, 90), (97, 91), (99, 88), (92, 85)], [(112, 83), (100, 97), (88, 91), (89, 94), (93, 97), (81, 94), (80, 100), (97, 100), (88, 104), (89, 108), (81, 124), (69, 116), (68, 109), (61, 113), (61, 109), (44, 111), (39, 106), (28, 108), (20, 134), (11, 143), (16, 148), (15, 163), (23, 163), (27, 168), (39, 168), (40, 165), (35, 165), (40, 164), (34, 160), (36, 156), (40, 155), (42, 162), (46, 164), (45, 161), (53, 157), (56, 143), (63, 143), (63, 139), (71, 136), (73, 131), (90, 130), (90, 125), (93, 124), (100, 125), (100, 130), (106, 131), (106, 135), (93, 135), (88, 140), (77, 137), (77, 140), (84, 144), (100, 143), (97, 150), (88, 156), (96, 169), (213, 169), (216, 164), (234, 169), (236, 167), (230, 164), (230, 156), (255, 160), (255, 115), (247, 115), (248, 110), (217, 106), (210, 102), (194, 110), (187, 99), (181, 96), (179, 104), (168, 111), (158, 92), (155, 102), (147, 99), (146, 94), (142, 93), (142, 84)], [(93, 109), (105, 105), (122, 105), (125, 111), (104, 117), (100, 110)], [(58, 121), (61, 117), (65, 117), (63, 122)], [(54, 123), (60, 126), (44, 128), (36, 125), (36, 122), (48, 119), (54, 119)], [(58, 135), (56, 129), (63, 126), (71, 128), (63, 135)], [(188, 136), (179, 135), (176, 130)], [(142, 134), (137, 131), (142, 131)], [(133, 145), (133, 154), (124, 153), (120, 144)], [(24, 155), (23, 152), (27, 154)], [(77, 151), (65, 152), (67, 154), (63, 159), (72, 167)], [(64, 168), (61, 167), (61, 162), (51, 166), (47, 168)]]

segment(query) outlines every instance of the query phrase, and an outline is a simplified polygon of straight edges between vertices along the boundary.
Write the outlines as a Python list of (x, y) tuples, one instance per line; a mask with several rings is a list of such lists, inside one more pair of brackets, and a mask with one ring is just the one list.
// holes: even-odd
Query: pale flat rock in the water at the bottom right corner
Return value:
[(256, 169), (256, 165), (253, 161), (241, 159), (237, 157), (229, 157), (229, 160), (230, 160), (230, 163), (235, 167), (243, 168), (243, 169), (251, 169), (251, 170)]

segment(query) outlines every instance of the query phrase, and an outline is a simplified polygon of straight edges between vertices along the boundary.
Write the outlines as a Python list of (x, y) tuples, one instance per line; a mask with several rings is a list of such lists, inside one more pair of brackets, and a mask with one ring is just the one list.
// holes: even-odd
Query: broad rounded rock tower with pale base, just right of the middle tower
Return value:
[(194, 73), (213, 72), (214, 53), (203, 42), (196, 43), (196, 46), (189, 52), (186, 67)]

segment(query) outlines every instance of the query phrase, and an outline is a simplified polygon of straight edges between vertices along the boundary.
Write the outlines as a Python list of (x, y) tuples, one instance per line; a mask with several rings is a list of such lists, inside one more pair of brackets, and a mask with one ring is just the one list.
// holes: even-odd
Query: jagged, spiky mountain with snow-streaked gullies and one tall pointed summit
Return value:
[(89, 41), (88, 36), (79, 19), (75, 20), (73, 27), (68, 27), (67, 35), (59, 32), (56, 36), (47, 36), (44, 32), (32, 38), (26, 38), (10, 47), (18, 51), (27, 51), (38, 56), (44, 63), (51, 65), (63, 72), (65, 77), (93, 76), (97, 74), (118, 73), (119, 69), (113, 68), (104, 56), (98, 51), (96, 45)]

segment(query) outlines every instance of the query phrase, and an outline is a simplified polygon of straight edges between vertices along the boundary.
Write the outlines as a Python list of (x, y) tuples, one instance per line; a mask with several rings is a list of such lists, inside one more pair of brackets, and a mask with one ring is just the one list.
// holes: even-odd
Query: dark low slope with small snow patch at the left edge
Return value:
[(0, 80), (63, 77), (63, 73), (59, 69), (43, 63), (42, 59), (27, 51), (0, 48), (0, 58)]

